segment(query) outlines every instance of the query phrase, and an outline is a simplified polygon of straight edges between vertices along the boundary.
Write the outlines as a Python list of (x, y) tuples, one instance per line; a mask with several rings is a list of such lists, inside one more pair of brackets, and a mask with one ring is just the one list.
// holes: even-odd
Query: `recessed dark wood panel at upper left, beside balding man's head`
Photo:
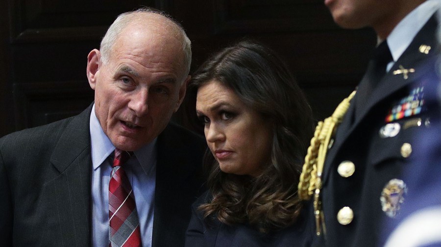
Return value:
[(122, 12), (154, 0), (11, 1), (13, 42), (99, 39)]

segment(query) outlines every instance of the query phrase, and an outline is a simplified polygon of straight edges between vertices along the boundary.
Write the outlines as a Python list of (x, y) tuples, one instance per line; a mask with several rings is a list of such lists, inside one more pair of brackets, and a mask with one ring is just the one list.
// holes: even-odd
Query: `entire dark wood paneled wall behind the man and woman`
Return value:
[[(317, 119), (352, 91), (376, 41), (371, 30), (339, 28), (322, 0), (1, 1), (0, 134), (89, 105), (87, 54), (118, 14), (141, 5), (182, 23), (192, 40), (192, 71), (243, 37), (268, 44), (293, 70)], [(173, 120), (187, 123), (185, 117), (180, 110)]]

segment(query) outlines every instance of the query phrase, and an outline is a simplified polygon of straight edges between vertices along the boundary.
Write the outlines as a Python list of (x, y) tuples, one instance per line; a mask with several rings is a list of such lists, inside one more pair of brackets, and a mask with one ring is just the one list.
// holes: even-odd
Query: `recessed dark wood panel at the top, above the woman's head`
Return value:
[(220, 34), (336, 29), (320, 0), (219, 0), (214, 17)]

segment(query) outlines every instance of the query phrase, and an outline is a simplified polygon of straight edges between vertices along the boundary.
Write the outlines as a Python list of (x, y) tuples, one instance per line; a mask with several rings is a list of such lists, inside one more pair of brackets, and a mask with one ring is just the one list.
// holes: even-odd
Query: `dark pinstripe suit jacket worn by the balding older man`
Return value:
[[(2, 246), (91, 245), (91, 109), (0, 139)], [(206, 144), (169, 124), (157, 145), (152, 246), (183, 246)]]

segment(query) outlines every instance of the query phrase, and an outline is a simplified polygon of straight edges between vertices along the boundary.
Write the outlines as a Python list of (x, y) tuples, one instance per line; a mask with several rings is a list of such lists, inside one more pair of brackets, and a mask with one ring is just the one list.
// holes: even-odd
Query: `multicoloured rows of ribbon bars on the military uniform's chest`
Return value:
[(410, 95), (401, 99), (389, 110), (386, 123), (419, 114), (424, 103), (424, 87), (415, 88)]

